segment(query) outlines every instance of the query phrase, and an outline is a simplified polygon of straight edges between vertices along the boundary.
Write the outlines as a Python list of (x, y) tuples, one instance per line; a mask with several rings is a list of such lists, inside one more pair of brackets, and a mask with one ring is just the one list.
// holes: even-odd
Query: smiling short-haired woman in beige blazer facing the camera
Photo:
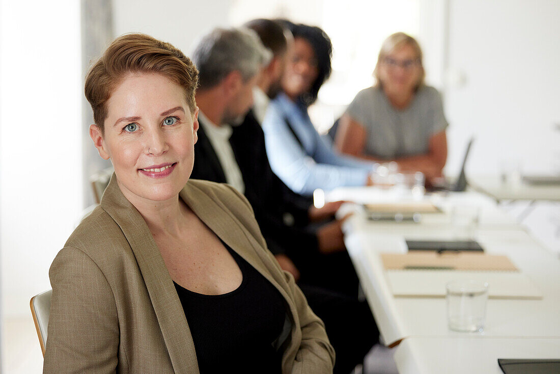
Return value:
[(115, 173), (53, 261), (45, 373), (332, 372), (323, 322), (234, 188), (189, 180), (198, 72), (150, 36), (86, 77)]

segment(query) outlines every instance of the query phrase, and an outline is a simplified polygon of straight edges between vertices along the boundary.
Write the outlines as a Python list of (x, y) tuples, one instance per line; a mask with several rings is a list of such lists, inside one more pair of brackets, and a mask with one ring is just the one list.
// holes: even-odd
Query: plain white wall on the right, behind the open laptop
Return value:
[(560, 1), (450, 0), (449, 15), (450, 72), (465, 79), (446, 86), (449, 168), (470, 134), (471, 174), (499, 173), (504, 160), (558, 168)]

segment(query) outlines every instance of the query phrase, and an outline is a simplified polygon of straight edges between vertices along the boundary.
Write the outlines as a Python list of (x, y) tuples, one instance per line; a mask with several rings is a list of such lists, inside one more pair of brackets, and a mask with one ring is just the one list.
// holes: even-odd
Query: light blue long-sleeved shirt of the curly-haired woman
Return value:
[(364, 186), (376, 167), (375, 163), (335, 153), (315, 130), (307, 110), (285, 94), (270, 101), (263, 130), (270, 167), (288, 187), (301, 195), (309, 196), (316, 188)]

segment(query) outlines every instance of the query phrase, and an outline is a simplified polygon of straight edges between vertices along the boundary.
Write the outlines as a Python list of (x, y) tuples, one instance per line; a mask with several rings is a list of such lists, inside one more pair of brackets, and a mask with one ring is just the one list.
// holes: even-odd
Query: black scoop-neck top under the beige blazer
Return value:
[(193, 336), (199, 371), (281, 373), (282, 354), (272, 344), (284, 326), (282, 295), (253, 266), (224, 246), (243, 275), (237, 289), (204, 295), (174, 283)]

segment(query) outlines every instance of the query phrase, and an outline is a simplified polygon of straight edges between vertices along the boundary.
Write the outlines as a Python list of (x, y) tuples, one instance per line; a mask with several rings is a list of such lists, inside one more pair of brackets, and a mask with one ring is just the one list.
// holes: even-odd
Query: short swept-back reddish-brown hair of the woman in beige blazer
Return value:
[(149, 35), (125, 34), (113, 40), (86, 75), (86, 99), (94, 111), (94, 121), (101, 133), (111, 94), (125, 75), (138, 72), (158, 73), (183, 87), (186, 102), (194, 113), (198, 70), (190, 58), (173, 45)]

